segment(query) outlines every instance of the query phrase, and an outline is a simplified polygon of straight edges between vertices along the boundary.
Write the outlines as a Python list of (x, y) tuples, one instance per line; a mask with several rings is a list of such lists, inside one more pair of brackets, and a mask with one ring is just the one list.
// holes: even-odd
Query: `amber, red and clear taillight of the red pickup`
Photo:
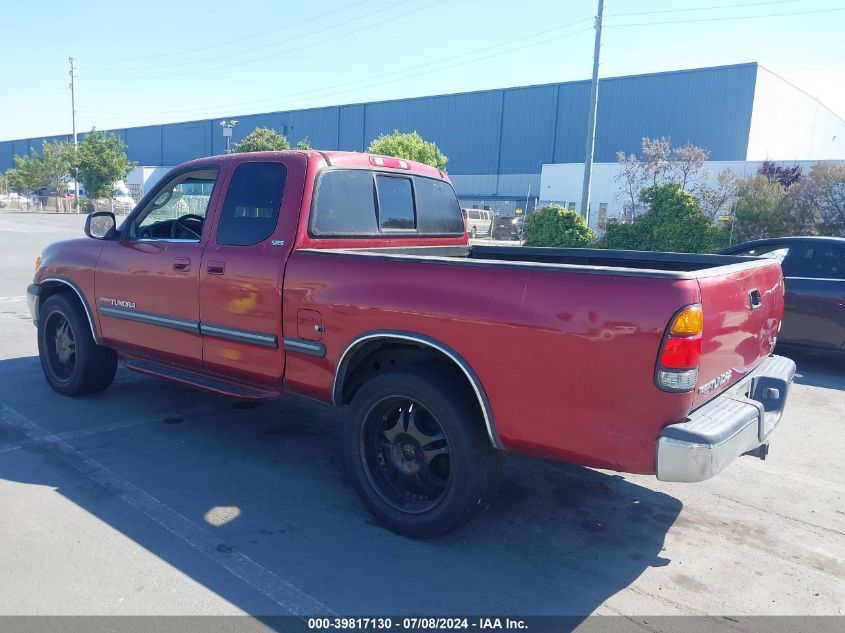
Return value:
[(700, 304), (683, 308), (669, 327), (660, 347), (655, 382), (664, 391), (690, 391), (698, 381), (704, 314)]

